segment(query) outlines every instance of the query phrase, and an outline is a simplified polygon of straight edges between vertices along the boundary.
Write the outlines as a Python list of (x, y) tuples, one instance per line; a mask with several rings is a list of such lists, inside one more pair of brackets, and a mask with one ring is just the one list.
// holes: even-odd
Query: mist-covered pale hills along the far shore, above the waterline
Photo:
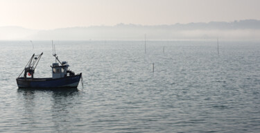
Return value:
[(162, 39), (220, 39), (260, 40), (260, 21), (211, 21), (159, 26), (117, 24), (116, 26), (90, 26), (30, 30), (20, 27), (0, 27), (0, 39), (59, 39), (59, 40), (150, 40)]

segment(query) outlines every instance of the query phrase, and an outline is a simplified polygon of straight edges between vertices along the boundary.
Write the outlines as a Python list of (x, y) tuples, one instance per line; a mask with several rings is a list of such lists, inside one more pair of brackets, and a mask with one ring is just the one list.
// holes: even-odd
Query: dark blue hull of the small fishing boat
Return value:
[(64, 78), (17, 78), (16, 81), (19, 88), (76, 88), (81, 75)]

